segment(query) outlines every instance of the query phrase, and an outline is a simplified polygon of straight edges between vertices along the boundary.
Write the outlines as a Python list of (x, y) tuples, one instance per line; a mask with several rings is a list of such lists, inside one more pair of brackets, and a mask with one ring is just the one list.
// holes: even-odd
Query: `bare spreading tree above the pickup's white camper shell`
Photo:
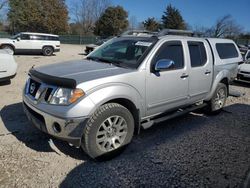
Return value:
[(231, 15), (219, 18), (215, 25), (207, 31), (213, 37), (235, 37), (242, 32), (242, 27), (238, 25)]

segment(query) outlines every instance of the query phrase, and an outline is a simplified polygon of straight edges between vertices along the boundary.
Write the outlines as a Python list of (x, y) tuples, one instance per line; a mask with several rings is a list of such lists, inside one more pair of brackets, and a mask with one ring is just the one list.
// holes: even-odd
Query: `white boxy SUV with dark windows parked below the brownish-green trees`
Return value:
[(60, 51), (59, 36), (44, 33), (19, 33), (10, 39), (0, 39), (0, 48), (13, 53), (42, 53), (51, 56)]

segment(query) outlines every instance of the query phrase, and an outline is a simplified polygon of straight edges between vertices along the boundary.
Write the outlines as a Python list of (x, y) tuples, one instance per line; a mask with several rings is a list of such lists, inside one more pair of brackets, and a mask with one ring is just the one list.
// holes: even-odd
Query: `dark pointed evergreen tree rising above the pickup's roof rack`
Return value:
[(186, 29), (186, 24), (178, 9), (169, 4), (166, 11), (162, 15), (162, 23), (164, 28), (168, 29)]

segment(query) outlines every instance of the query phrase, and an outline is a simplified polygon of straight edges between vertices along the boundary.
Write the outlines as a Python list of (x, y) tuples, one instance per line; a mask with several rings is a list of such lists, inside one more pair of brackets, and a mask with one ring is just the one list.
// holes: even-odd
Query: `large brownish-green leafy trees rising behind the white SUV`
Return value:
[(8, 20), (13, 33), (60, 34), (68, 31), (68, 10), (64, 0), (9, 0)]

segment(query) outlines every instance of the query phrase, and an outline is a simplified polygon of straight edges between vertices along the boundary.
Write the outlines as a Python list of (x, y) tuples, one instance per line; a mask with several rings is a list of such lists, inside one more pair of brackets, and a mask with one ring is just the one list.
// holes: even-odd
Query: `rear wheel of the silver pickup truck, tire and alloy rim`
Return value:
[(208, 101), (208, 106), (205, 110), (205, 113), (211, 115), (219, 114), (225, 106), (227, 96), (227, 86), (223, 83), (219, 83), (212, 99)]

